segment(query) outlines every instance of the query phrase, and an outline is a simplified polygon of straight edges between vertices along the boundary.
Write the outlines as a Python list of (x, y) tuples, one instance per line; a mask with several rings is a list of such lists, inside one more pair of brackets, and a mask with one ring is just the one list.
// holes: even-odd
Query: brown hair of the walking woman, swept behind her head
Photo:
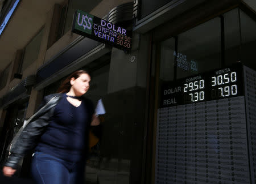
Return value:
[(79, 78), (81, 74), (88, 74), (89, 73), (85, 70), (77, 70), (75, 72), (73, 72), (71, 75), (69, 75), (67, 77), (67, 79), (65, 79), (61, 84), (60, 84), (60, 87), (57, 89), (57, 93), (67, 93), (69, 92), (70, 88), (71, 88), (71, 83), (70, 83), (70, 80), (72, 78)]

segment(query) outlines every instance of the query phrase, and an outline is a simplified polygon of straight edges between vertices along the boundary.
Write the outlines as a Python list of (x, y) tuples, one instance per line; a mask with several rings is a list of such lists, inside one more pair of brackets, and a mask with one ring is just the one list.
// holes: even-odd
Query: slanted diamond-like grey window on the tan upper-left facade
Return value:
[(30, 66), (37, 58), (40, 51), (41, 41), (43, 37), (43, 31), (42, 29), (38, 35), (36, 35), (32, 40), (28, 43), (24, 50), (24, 57), (22, 62), (22, 71), (27, 69), (28, 66)]

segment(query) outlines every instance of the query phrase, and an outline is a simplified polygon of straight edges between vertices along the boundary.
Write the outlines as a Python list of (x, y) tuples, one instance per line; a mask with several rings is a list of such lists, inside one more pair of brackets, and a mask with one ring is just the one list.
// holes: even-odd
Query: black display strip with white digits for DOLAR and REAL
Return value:
[(173, 82), (164, 82), (160, 108), (241, 95), (242, 66), (238, 64)]

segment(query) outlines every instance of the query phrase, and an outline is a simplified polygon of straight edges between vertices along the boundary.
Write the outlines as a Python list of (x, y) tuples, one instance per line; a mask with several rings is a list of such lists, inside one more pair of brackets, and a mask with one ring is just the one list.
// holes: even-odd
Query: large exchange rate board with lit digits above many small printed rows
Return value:
[(238, 65), (163, 84), (155, 183), (255, 183), (255, 78)]

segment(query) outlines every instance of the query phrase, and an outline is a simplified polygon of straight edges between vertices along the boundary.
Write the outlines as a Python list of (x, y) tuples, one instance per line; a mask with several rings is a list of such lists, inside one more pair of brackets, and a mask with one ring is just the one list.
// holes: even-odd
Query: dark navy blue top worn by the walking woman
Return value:
[(63, 94), (35, 150), (65, 161), (80, 161), (88, 149), (88, 129), (93, 113), (92, 102), (88, 99), (83, 99), (76, 107)]

